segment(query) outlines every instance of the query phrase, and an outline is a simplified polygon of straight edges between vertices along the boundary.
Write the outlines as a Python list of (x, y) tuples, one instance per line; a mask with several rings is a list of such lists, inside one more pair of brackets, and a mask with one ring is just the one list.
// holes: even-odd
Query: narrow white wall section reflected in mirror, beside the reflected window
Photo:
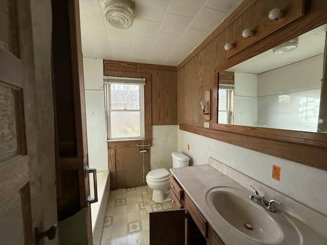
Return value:
[(235, 72), (234, 124), (256, 123), (258, 75)]

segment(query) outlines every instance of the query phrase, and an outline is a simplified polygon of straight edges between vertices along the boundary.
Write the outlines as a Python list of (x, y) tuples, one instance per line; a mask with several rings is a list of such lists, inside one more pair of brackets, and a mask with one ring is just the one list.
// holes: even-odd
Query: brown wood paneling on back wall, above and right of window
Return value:
[(104, 60), (104, 71), (149, 73), (152, 78), (152, 125), (177, 124), (177, 69), (123, 61)]

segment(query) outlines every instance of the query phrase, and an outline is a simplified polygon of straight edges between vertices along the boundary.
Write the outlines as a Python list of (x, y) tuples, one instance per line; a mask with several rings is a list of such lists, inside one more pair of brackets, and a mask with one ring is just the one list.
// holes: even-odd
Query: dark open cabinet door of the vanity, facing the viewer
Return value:
[(152, 212), (149, 215), (151, 245), (185, 244), (185, 209)]

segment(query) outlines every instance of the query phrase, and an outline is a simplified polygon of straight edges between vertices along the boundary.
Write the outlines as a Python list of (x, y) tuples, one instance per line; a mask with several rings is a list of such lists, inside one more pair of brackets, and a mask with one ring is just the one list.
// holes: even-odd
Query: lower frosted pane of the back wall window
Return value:
[(139, 111), (111, 111), (111, 138), (141, 137)]

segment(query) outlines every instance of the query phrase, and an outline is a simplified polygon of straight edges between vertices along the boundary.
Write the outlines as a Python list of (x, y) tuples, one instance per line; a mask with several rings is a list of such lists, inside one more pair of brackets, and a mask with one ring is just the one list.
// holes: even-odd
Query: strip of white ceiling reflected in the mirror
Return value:
[(227, 71), (261, 74), (268, 70), (289, 65), (310, 57), (324, 53), (327, 24), (304, 33), (298, 37), (298, 46), (295, 50), (276, 55), (268, 50), (254, 56), (240, 64), (230, 67)]

